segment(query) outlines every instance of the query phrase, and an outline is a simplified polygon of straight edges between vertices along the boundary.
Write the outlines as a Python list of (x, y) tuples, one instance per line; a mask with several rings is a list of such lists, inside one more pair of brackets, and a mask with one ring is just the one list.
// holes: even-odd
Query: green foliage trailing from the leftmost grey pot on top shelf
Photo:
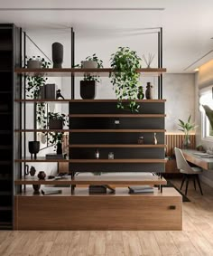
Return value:
[[(41, 58), (40, 56), (32, 56), (31, 58), (26, 57), (27, 61), (40, 61), (42, 62), (42, 68), (47, 69), (50, 67), (51, 63), (46, 62), (44, 58)], [(26, 76), (27, 84), (26, 84), (26, 92), (28, 97), (32, 99), (37, 99), (40, 95), (40, 91), (42, 86), (46, 83), (48, 78), (43, 77), (41, 75), (27, 75)]]

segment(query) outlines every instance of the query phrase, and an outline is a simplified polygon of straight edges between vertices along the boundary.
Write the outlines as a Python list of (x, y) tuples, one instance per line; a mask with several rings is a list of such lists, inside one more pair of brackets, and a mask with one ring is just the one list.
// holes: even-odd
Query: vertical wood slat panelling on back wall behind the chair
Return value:
[[(184, 134), (166, 134), (166, 156), (173, 156), (173, 148), (180, 147), (182, 148), (182, 142), (184, 139)], [(196, 147), (195, 134), (190, 135), (190, 149), (194, 149)]]

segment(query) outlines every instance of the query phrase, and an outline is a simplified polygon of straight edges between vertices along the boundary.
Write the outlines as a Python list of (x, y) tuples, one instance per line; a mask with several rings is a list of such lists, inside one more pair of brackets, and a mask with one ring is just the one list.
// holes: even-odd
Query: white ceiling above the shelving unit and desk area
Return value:
[(162, 27), (169, 72), (191, 72), (212, 59), (212, 14), (212, 0), (0, 0), (0, 23), (28, 31), (74, 27), (81, 37), (131, 36), (140, 43), (143, 28)]

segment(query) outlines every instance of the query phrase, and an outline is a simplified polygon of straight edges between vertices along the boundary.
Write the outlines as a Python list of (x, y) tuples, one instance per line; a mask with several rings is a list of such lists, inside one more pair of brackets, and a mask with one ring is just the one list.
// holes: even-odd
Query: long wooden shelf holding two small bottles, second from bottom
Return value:
[(126, 164), (126, 163), (166, 163), (166, 159), (46, 159), (45, 157), (37, 157), (37, 159), (31, 159), (26, 157), (23, 159), (14, 159), (14, 162), (68, 162), (68, 163), (79, 163), (79, 164)]

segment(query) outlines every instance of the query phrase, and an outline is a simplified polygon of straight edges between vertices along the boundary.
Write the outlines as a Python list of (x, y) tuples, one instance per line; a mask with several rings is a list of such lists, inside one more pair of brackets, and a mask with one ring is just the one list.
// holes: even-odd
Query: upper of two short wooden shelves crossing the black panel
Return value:
[(70, 118), (165, 118), (164, 114), (70, 114)]

